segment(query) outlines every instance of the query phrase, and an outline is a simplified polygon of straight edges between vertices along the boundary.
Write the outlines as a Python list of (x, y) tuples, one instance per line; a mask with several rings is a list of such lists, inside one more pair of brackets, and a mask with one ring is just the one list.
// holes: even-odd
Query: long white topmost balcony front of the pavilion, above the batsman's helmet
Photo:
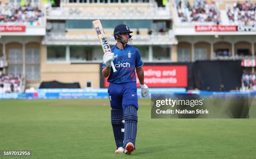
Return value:
[[(106, 4), (108, 5), (108, 4)], [(170, 19), (169, 5), (120, 5), (120, 7), (95, 6), (48, 8), (47, 19)]]

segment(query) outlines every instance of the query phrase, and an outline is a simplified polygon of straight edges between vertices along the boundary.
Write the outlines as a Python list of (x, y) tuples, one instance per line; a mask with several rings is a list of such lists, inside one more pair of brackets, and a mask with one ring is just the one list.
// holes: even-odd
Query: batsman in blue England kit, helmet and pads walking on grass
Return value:
[[(131, 154), (135, 149), (137, 134), (137, 110), (138, 96), (136, 86), (136, 73), (141, 85), (141, 96), (146, 98), (149, 93), (148, 86), (144, 84), (143, 61), (137, 48), (131, 43), (130, 33), (133, 33), (127, 25), (120, 24), (115, 27), (114, 37), (117, 40), (112, 52), (103, 56), (102, 74), (108, 77), (109, 100), (111, 106), (111, 124), (117, 150), (115, 153)], [(113, 61), (116, 72), (111, 68)], [(125, 121), (123, 126), (122, 121)], [(121, 130), (124, 128), (124, 132)]]

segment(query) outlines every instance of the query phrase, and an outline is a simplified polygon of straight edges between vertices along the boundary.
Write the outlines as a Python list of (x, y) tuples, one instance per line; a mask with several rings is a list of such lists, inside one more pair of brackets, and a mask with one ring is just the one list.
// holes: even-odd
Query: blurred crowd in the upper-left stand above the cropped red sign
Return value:
[(0, 5), (0, 23), (28, 23), (40, 25), (42, 11), (31, 5)]

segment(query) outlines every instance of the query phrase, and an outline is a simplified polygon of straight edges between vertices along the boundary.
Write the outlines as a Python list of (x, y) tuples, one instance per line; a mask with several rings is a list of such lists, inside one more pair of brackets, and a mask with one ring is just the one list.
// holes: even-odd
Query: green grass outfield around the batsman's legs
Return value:
[(0, 100), (0, 150), (31, 150), (24, 159), (256, 159), (256, 119), (151, 119), (150, 100), (139, 105), (129, 156), (114, 153), (108, 99)]

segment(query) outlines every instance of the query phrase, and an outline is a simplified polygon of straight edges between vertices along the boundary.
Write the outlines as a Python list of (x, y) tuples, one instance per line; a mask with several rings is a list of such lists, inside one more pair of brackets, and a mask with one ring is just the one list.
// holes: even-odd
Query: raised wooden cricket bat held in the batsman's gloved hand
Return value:
[[(96, 33), (98, 35), (98, 38), (100, 40), (100, 44), (102, 46), (102, 50), (104, 53), (106, 52), (112, 52), (111, 51), (111, 48), (110, 48), (110, 45), (108, 44), (108, 40), (107, 40), (107, 37), (106, 37), (106, 34), (102, 28), (102, 25), (100, 23), (100, 20), (94, 20), (92, 21), (92, 24), (96, 30)], [(115, 65), (113, 63), (113, 61), (111, 61), (111, 66), (113, 68), (113, 72), (116, 72), (116, 69), (115, 69)]]

